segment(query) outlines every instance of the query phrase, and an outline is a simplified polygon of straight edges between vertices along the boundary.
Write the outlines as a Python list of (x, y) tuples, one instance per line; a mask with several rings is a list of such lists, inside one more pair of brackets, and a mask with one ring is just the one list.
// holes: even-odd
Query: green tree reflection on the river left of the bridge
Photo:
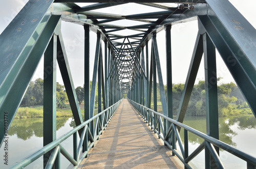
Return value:
[[(58, 117), (56, 129), (59, 130), (65, 125), (69, 117)], [(43, 136), (43, 118), (14, 119), (8, 131), (9, 136), (17, 135), (18, 138), (27, 140), (33, 136)], [(68, 132), (68, 131), (67, 131)]]

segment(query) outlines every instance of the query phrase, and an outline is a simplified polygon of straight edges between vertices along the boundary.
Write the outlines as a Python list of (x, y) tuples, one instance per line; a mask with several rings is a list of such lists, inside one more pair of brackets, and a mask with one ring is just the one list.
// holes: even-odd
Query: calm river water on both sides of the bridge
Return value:
[[(187, 116), (184, 124), (206, 133), (205, 117)], [(57, 138), (70, 131), (74, 126), (73, 118), (57, 118)], [(220, 140), (245, 153), (256, 157), (256, 118), (253, 115), (226, 116), (219, 118)], [(8, 132), (8, 165), (1, 160), (0, 168), (8, 168), (16, 161), (32, 154), (42, 148), (42, 118), (14, 119)], [(181, 137), (183, 132), (181, 130)], [(189, 154), (192, 153), (203, 140), (189, 133)], [(61, 145), (73, 155), (73, 137), (71, 136)], [(178, 146), (177, 146), (178, 147)], [(1, 157), (4, 156), (4, 148), (0, 149)], [(220, 151), (220, 158), (226, 168), (246, 168), (246, 162), (225, 152)], [(204, 168), (204, 151), (191, 162)], [(61, 168), (66, 168), (70, 163), (61, 155)], [(42, 157), (28, 165), (26, 168), (42, 168)]]

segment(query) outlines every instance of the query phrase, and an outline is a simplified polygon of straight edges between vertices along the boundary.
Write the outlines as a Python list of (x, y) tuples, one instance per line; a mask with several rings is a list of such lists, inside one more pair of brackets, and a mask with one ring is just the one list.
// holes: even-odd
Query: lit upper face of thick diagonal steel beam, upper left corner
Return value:
[[(49, 15), (45, 16), (45, 14), (48, 12), (52, 3), (53, 0), (29, 1), (0, 35), (1, 88), (5, 81), (8, 81), (9, 87), (14, 75), (22, 67), (23, 62), (17, 63), (16, 61), (17, 59), (23, 59), (29, 54), (35, 40), (42, 31), (42, 27), (45, 26), (46, 21), (50, 17)], [(40, 10), (37, 9), (38, 6), (40, 6)], [(31, 15), (31, 13), (35, 13), (36, 15)], [(13, 69), (16, 69), (16, 74), (14, 75), (12, 75)], [(11, 76), (11, 80), (9, 80), (9, 76)], [(0, 103), (3, 101), (4, 96), (1, 93)]]

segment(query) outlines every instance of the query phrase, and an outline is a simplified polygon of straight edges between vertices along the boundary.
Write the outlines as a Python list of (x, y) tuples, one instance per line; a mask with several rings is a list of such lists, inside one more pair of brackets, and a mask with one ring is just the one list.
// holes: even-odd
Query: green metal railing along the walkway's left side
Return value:
[[(121, 102), (122, 102), (122, 99), (119, 100), (114, 105), (110, 106), (109, 108), (105, 109), (104, 111), (86, 120), (86, 122), (83, 122), (81, 125), (77, 126), (73, 130), (62, 135), (61, 137), (54, 140), (53, 142), (47, 144), (47, 146), (25, 157), (24, 159), (16, 162), (10, 168), (23, 168), (49, 151), (51, 151), (51, 155), (45, 168), (52, 168), (54, 163), (55, 163), (55, 168), (60, 168), (60, 160), (56, 160), (56, 158), (58, 158), (57, 156), (59, 156), (60, 153), (63, 156), (65, 156), (74, 165), (73, 168), (77, 168), (79, 164), (82, 162), (82, 160), (85, 157), (87, 157), (88, 152), (94, 146), (95, 141), (99, 139), (99, 135), (102, 133), (105, 127), (109, 124), (110, 120), (112, 119), (113, 115), (115, 114)], [(93, 123), (95, 125), (93, 125)], [(93, 126), (94, 126), (94, 130), (92, 130)], [(77, 145), (77, 133), (79, 130), (82, 130), (82, 134), (79, 140), (79, 144)], [(70, 155), (65, 150), (65, 148), (61, 146), (61, 142), (65, 141), (67, 138), (69, 138), (72, 135), (73, 135), (73, 156)]]

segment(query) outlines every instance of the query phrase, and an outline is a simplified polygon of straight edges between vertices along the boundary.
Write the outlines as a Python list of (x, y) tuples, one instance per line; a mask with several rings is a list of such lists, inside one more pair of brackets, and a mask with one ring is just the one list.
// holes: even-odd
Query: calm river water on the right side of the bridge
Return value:
[[(187, 116), (184, 124), (206, 133), (205, 117)], [(253, 115), (219, 117), (220, 140), (230, 146), (239, 149), (249, 155), (256, 157), (256, 118)], [(183, 138), (183, 131), (181, 137)], [(189, 133), (189, 154), (192, 153), (203, 142), (203, 139)], [(191, 162), (198, 168), (204, 167), (204, 150)], [(240, 158), (220, 150), (220, 159), (225, 168), (246, 168), (246, 162)]]

